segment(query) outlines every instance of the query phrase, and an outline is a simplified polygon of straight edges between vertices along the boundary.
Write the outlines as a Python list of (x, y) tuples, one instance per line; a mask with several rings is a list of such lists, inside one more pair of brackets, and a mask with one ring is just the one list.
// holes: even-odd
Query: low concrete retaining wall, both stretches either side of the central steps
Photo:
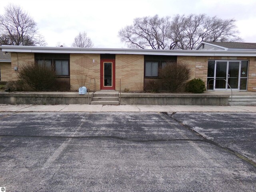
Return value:
[[(89, 93), (92, 100), (93, 93)], [(228, 105), (228, 94), (138, 94), (122, 93), (121, 105)], [(1, 92), (0, 104), (88, 104), (88, 93)]]

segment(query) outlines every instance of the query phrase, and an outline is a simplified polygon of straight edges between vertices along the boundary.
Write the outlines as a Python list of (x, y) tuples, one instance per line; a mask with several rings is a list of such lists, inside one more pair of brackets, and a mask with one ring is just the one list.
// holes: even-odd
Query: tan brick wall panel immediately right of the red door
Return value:
[(144, 55), (116, 54), (116, 90), (142, 91), (144, 86)]

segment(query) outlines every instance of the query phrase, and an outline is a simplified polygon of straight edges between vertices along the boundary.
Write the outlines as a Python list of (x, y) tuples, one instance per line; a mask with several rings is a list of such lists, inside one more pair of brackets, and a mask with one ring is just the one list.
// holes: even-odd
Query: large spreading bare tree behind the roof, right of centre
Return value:
[(242, 41), (234, 19), (222, 20), (205, 14), (135, 18), (118, 36), (129, 48), (192, 50), (202, 41)]

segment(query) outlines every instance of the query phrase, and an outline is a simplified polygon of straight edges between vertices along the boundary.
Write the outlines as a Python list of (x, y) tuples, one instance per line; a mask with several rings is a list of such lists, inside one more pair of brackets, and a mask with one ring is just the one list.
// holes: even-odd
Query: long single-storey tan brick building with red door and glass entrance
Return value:
[(121, 90), (140, 91), (150, 81), (158, 81), (158, 69), (172, 60), (186, 62), (192, 78), (202, 78), (210, 90), (230, 90), (226, 80), (232, 90), (256, 91), (254, 43), (202, 42), (197, 50), (1, 47), (3, 52), (15, 52), (9, 72), (12, 80), (16, 79), (14, 67), (44, 60), (54, 65), (60, 79), (70, 82), (71, 90), (78, 89), (76, 76), (85, 70), (86, 85), (95, 78), (96, 90), (119, 90), (121, 79)]

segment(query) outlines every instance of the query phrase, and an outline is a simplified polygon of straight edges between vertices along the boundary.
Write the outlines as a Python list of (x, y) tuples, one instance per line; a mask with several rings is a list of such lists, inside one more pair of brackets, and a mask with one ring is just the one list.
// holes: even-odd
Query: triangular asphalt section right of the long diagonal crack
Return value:
[(256, 163), (255, 113), (176, 113), (172, 117)]

